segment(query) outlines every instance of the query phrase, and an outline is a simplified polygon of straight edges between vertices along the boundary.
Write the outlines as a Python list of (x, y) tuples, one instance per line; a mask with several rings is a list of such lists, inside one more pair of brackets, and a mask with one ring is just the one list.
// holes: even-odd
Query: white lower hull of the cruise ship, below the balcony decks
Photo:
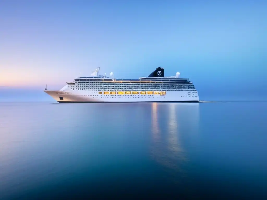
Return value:
[[(109, 94), (103, 91), (44, 90), (58, 102), (198, 102), (198, 92), (166, 91), (160, 94)], [(99, 94), (103, 92), (103, 94)], [(60, 99), (61, 97), (61, 99)]]

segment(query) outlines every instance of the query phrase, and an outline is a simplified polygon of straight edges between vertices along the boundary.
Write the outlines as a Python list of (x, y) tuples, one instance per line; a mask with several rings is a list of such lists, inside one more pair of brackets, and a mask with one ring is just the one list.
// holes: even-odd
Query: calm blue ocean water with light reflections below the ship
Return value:
[(267, 198), (267, 102), (0, 102), (0, 199)]

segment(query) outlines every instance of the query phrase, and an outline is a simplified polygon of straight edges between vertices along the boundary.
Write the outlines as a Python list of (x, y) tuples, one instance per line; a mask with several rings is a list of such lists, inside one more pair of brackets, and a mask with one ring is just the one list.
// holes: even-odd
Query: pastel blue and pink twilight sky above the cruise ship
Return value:
[(60, 89), (97, 67), (136, 79), (161, 66), (198, 90), (260, 91), (266, 10), (246, 0), (2, 0), (0, 86)]

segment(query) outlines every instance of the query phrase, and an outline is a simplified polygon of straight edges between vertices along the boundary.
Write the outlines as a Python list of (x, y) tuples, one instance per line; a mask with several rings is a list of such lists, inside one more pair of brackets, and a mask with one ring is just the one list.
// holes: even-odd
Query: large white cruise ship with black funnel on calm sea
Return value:
[(148, 77), (117, 79), (99, 74), (100, 67), (88, 77), (67, 82), (61, 90), (44, 90), (56, 101), (67, 102), (199, 102), (198, 91), (188, 78), (164, 77), (158, 67)]

